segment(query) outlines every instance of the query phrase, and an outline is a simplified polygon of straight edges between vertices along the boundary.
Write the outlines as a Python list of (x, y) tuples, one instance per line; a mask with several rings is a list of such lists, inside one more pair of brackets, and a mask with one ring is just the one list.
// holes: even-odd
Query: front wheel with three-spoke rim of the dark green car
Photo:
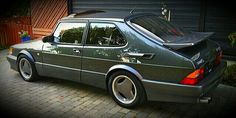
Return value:
[(17, 61), (18, 72), (23, 80), (27, 82), (35, 81), (38, 77), (35, 64), (29, 59), (28, 56), (22, 54), (18, 57)]

